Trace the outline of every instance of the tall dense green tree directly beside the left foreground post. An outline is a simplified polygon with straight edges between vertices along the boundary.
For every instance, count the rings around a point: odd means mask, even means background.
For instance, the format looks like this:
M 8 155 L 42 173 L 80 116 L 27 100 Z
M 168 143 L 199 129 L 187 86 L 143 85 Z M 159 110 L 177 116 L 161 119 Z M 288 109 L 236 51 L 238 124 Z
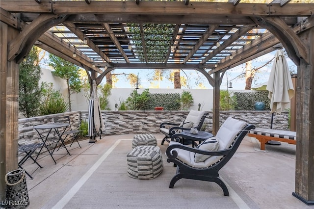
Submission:
M 19 75 L 19 111 L 26 117 L 39 114 L 40 98 L 43 86 L 39 85 L 42 75 L 38 65 L 38 50 L 33 47 L 27 57 L 20 63 Z

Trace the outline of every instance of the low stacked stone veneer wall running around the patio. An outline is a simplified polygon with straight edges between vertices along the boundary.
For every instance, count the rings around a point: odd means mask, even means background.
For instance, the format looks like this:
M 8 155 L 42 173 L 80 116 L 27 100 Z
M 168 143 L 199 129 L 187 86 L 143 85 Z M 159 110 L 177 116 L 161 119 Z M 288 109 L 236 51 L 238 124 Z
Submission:
M 159 134 L 159 125 L 162 122 L 181 123 L 189 111 L 102 111 L 105 123 L 104 134 Z M 65 112 L 60 114 L 23 118 L 19 120 L 19 143 L 40 142 L 37 131 L 33 126 L 53 123 L 52 118 L 58 115 L 70 115 L 73 129 L 78 129 L 81 121 L 87 121 L 87 111 Z M 269 111 L 220 111 L 220 124 L 229 116 L 246 121 L 259 128 L 270 128 L 271 114 Z M 204 124 L 206 131 L 212 131 L 212 111 L 206 117 Z M 273 129 L 288 130 L 288 112 L 275 115 Z M 48 130 L 43 130 L 47 133 Z

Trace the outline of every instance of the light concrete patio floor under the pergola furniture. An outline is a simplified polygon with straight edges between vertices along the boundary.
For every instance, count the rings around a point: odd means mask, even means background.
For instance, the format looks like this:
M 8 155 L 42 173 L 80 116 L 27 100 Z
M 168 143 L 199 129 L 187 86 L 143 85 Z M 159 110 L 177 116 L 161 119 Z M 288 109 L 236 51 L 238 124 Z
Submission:
M 43 168 L 26 161 L 29 209 L 111 209 L 111 208 L 260 208 L 310 209 L 292 196 L 295 182 L 295 145 L 266 145 L 246 136 L 231 160 L 220 171 L 230 197 L 215 183 L 179 180 L 169 183 L 175 167 L 163 157 L 163 172 L 154 180 L 127 176 L 126 153 L 134 134 L 102 136 L 96 143 L 83 140 L 53 154 L 40 155 Z M 155 134 L 158 146 L 162 135 Z

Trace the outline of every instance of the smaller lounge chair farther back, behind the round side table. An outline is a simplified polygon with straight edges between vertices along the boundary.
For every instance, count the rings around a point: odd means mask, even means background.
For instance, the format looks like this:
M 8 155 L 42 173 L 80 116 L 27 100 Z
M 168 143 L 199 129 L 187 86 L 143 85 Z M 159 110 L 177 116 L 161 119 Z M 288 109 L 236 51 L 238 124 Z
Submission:
M 169 122 L 161 123 L 159 126 L 159 131 L 165 134 L 165 137 L 161 141 L 161 145 L 163 145 L 165 141 L 170 142 L 169 139 L 171 139 L 171 136 L 178 131 L 189 131 L 191 128 L 196 128 L 198 131 L 200 131 L 207 115 L 208 112 L 191 109 L 181 124 Z

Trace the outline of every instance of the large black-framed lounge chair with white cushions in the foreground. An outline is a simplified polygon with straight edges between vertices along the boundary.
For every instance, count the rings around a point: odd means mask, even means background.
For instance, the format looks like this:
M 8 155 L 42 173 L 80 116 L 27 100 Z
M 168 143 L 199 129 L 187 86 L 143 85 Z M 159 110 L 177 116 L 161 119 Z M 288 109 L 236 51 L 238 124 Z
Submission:
M 197 148 L 171 141 L 167 148 L 167 161 L 177 165 L 176 175 L 169 188 L 180 179 L 194 179 L 217 183 L 225 196 L 229 191 L 219 178 L 219 170 L 230 160 L 239 147 L 242 139 L 253 125 L 229 117 L 220 127 L 216 136 L 202 142 Z

